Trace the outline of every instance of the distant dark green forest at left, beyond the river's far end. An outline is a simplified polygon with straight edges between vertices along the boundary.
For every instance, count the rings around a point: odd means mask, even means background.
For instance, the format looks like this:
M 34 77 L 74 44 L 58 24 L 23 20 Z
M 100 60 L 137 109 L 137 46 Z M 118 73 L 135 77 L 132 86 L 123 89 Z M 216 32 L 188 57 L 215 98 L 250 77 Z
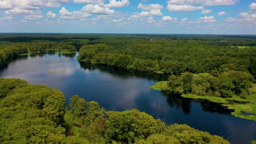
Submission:
M 49 50 L 56 51 L 57 53 L 75 53 L 79 51 L 82 45 L 89 43 L 88 39 L 27 37 L 0 37 L 0 68 L 19 55 L 29 55 Z

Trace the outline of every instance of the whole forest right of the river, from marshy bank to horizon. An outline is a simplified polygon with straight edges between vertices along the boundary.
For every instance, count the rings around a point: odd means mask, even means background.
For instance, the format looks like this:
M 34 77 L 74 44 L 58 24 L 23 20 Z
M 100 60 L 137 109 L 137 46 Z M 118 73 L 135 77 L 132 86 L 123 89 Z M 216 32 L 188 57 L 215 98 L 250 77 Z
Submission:
M 256 121 L 255 38 L 185 38 L 96 39 L 81 47 L 78 60 L 170 75 L 152 88 L 207 99 Z

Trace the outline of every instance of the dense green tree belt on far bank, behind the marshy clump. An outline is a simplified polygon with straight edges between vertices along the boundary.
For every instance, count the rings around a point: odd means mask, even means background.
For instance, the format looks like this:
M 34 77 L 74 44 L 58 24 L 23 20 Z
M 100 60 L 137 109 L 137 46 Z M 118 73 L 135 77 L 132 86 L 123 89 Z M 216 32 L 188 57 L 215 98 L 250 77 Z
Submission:
M 169 39 L 97 39 L 83 45 L 79 61 L 180 75 L 213 70 L 246 71 L 256 77 L 256 48 L 213 45 L 211 41 Z

